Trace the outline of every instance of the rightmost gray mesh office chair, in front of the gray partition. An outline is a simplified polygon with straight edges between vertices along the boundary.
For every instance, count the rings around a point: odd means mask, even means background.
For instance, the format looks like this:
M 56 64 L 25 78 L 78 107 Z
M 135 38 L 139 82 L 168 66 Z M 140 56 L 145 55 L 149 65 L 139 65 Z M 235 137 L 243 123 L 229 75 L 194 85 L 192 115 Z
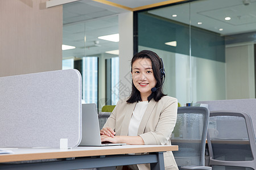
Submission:
M 210 112 L 207 139 L 212 169 L 256 169 L 256 143 L 249 114 Z

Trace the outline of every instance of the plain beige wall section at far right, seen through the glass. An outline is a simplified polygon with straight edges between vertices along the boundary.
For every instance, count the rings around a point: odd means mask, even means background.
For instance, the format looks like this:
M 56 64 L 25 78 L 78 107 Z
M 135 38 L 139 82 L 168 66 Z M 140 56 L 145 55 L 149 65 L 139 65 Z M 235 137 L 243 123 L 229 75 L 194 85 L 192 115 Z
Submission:
M 226 47 L 226 99 L 255 98 L 254 44 Z

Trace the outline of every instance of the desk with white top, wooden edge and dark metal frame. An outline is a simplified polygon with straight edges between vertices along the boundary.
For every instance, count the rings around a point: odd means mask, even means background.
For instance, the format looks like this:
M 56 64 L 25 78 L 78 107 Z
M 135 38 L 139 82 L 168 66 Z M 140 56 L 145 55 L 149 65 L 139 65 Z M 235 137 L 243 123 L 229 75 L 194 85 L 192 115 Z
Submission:
M 151 163 L 151 169 L 164 169 L 163 152 L 177 151 L 178 146 L 125 145 L 105 147 L 9 149 L 14 154 L 0 155 L 0 169 L 82 169 Z M 150 152 L 146 155 L 127 155 Z M 52 162 L 35 160 L 57 159 Z M 26 161 L 29 163 L 10 163 Z

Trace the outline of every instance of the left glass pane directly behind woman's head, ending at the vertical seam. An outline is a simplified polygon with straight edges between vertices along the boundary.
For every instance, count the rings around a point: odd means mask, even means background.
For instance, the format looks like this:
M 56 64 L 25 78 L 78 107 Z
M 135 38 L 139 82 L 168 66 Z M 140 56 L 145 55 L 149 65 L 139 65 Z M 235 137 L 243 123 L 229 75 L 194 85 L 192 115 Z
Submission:
M 189 9 L 186 4 L 184 7 Z M 138 14 L 138 50 L 152 50 L 163 58 L 164 92 L 178 97 L 179 103 L 186 103 L 191 97 L 189 27 L 164 18 L 160 13 L 162 8 Z M 174 15 L 169 10 L 163 13 Z M 184 19 L 189 20 L 188 17 Z

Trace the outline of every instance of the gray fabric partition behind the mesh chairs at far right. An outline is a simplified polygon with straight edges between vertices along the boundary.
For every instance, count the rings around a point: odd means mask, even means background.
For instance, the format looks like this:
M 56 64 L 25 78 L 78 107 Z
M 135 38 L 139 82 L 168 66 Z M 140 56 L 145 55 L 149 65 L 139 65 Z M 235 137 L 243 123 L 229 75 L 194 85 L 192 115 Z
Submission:
M 234 99 L 234 100 L 212 100 L 197 101 L 197 103 L 208 104 L 209 111 L 238 111 L 250 115 L 253 127 L 256 127 L 256 99 Z M 256 135 L 255 131 L 254 134 Z

